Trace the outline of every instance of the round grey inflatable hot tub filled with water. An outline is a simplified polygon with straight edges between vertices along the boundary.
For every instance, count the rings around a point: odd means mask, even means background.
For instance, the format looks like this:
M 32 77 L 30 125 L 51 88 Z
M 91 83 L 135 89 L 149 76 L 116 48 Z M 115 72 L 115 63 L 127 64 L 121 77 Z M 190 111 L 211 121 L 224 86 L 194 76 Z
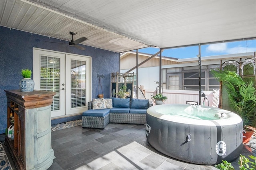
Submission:
M 242 153 L 242 119 L 200 105 L 156 105 L 146 113 L 146 137 L 156 150 L 195 164 L 231 162 Z

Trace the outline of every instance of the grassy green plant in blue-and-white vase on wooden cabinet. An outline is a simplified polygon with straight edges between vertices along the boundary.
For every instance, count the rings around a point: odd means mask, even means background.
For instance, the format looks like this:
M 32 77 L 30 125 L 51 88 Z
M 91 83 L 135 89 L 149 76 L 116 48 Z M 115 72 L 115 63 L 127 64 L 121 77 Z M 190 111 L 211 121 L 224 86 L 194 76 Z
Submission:
M 30 92 L 34 91 L 34 80 L 31 79 L 32 71 L 30 69 L 22 69 L 20 71 L 23 79 L 20 80 L 20 91 Z

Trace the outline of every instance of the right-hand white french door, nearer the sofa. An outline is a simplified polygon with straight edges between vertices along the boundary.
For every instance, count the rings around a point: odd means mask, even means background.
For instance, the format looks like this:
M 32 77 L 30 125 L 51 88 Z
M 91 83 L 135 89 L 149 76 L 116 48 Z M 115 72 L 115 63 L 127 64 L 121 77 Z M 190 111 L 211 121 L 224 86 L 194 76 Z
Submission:
M 66 115 L 82 113 L 90 101 L 90 57 L 66 54 Z

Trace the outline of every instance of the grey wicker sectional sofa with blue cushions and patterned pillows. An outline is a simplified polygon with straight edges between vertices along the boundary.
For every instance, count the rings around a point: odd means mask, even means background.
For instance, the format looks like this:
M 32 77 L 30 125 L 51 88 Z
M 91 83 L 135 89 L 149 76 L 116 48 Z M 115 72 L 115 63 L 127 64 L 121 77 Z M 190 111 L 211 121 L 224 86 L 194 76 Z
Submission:
M 147 99 L 93 99 L 82 113 L 82 127 L 105 128 L 108 123 L 145 124 L 146 112 L 153 105 Z

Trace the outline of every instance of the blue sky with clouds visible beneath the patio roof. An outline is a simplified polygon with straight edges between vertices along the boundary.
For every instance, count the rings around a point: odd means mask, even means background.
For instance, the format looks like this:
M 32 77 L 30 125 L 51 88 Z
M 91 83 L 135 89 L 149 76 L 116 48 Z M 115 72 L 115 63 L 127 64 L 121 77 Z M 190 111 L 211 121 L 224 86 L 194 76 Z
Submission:
M 153 47 L 139 49 L 139 52 L 149 54 L 154 54 L 157 51 L 159 51 L 159 49 Z M 246 53 L 254 51 L 256 51 L 256 40 L 201 45 L 201 57 L 212 55 Z M 196 55 L 198 55 L 198 46 L 165 49 L 162 52 L 162 56 L 174 57 L 179 59 L 194 58 L 196 57 Z

